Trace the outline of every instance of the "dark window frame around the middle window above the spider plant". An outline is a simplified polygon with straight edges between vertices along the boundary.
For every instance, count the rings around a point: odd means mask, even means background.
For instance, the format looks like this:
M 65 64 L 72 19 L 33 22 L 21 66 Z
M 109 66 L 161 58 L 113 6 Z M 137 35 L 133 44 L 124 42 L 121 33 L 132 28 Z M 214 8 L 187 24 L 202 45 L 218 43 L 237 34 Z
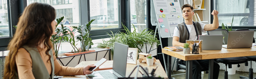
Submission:
M 88 21 L 90 21 L 90 0 L 79 0 L 79 7 L 80 7 L 80 24 L 84 25 L 87 24 Z M 127 3 L 127 4 L 126 4 Z M 87 4 L 87 5 L 84 5 Z M 113 34 L 117 32 L 124 32 L 125 25 L 128 30 L 131 30 L 131 21 L 130 21 L 130 0 L 118 0 L 118 10 L 119 10 L 119 28 L 110 28 L 110 29 L 97 29 L 97 30 L 91 30 L 90 34 L 92 34 L 90 37 L 92 40 L 95 39 L 101 39 L 101 38 L 109 38 L 110 36 L 107 35 L 107 33 L 111 34 L 110 31 L 113 32 Z M 83 8 L 81 8 L 83 7 Z M 83 14 L 83 15 L 81 15 Z M 85 26 L 84 26 L 85 27 Z

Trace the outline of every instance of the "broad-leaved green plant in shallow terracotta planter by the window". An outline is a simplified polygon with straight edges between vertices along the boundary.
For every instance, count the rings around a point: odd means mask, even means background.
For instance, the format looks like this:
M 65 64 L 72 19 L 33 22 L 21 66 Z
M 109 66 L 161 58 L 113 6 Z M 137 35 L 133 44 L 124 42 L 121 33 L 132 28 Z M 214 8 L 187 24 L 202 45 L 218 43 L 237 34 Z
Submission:
M 72 46 L 73 49 L 74 49 L 74 52 L 73 52 L 73 50 L 71 50 L 70 53 L 65 53 L 66 56 L 84 54 L 84 53 L 88 53 L 88 52 L 93 52 L 93 51 L 95 51 L 95 50 L 89 50 L 89 51 L 88 51 L 89 47 L 90 47 L 91 45 L 93 45 L 92 39 L 89 37 L 91 34 L 89 34 L 89 33 L 90 33 L 90 31 L 91 31 L 90 25 L 91 25 L 92 21 L 94 21 L 94 20 L 95 20 L 95 19 L 89 21 L 88 24 L 86 24 L 86 27 L 83 27 L 83 25 L 78 25 L 78 27 L 73 27 L 74 29 L 77 30 L 78 33 L 80 33 L 79 35 L 77 35 L 77 36 L 74 37 L 74 36 L 71 34 L 70 37 L 68 37 L 68 36 L 65 36 L 65 37 L 64 37 L 65 41 L 68 42 L 68 43 L 70 43 L 71 46 Z M 74 32 L 75 30 L 72 30 L 72 31 L 71 31 L 71 30 L 68 30 L 68 31 L 69 31 L 70 33 L 72 33 L 72 32 Z M 77 48 L 77 47 L 76 47 L 77 44 L 75 44 L 76 41 L 74 40 L 74 38 L 76 38 L 78 41 L 81 42 L 81 47 L 80 47 L 80 48 Z M 88 46 L 87 50 L 86 50 L 86 46 Z

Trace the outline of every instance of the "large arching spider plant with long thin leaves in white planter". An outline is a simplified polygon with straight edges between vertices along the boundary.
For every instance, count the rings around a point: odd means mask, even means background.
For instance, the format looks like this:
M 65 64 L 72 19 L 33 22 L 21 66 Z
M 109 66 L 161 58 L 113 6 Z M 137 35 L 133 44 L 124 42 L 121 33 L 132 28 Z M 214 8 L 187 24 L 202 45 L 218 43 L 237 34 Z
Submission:
M 123 25 L 123 24 L 122 24 Z M 136 32 L 136 29 L 134 27 L 134 31 L 131 32 L 129 31 L 125 25 L 123 25 L 124 27 L 124 31 L 125 33 L 122 32 L 118 32 L 113 34 L 113 32 L 111 31 L 112 35 L 107 33 L 111 38 L 109 41 L 104 41 L 103 43 L 98 43 L 99 48 L 110 48 L 111 49 L 111 53 L 113 55 L 114 52 L 114 43 L 118 42 L 121 44 L 125 44 L 128 45 L 131 48 L 138 48 L 139 52 L 141 52 L 141 47 L 144 46 L 144 43 L 149 43 L 151 45 L 153 45 L 154 43 L 156 43 L 156 45 L 158 46 L 159 41 L 157 40 L 157 38 L 154 36 L 154 31 L 150 30 L 150 29 L 144 29 L 141 32 Z M 149 31 L 147 31 L 149 30 Z

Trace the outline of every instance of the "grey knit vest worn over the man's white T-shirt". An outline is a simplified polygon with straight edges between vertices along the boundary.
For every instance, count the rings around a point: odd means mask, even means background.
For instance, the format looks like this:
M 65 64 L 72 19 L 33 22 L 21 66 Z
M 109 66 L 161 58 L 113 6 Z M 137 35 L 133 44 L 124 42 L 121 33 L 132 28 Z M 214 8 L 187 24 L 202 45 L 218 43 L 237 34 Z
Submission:
M 195 27 L 197 40 L 198 40 L 198 35 L 202 35 L 201 25 L 199 22 L 194 22 L 194 21 L 193 21 L 193 25 Z M 189 40 L 189 31 L 188 31 L 187 25 L 185 24 L 185 22 L 182 22 L 178 24 L 176 27 L 179 30 L 179 42 L 186 43 L 186 40 Z

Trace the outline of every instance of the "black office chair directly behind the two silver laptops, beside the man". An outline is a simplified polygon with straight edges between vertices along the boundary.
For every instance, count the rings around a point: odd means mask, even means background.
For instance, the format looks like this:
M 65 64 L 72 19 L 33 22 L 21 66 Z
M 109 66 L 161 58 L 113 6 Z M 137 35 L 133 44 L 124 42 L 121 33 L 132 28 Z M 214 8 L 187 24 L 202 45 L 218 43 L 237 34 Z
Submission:
M 216 30 L 211 30 L 207 31 L 208 35 L 224 35 L 223 38 L 223 45 L 227 44 L 228 42 L 228 30 L 226 29 L 216 29 Z M 247 62 L 246 57 L 230 57 L 230 58 L 218 58 L 215 59 L 217 63 L 223 63 L 225 64 L 225 72 L 224 72 L 224 79 L 228 79 L 228 71 L 227 71 L 227 66 L 228 68 L 232 68 L 231 64 L 238 64 L 238 67 L 240 67 L 239 64 Z

